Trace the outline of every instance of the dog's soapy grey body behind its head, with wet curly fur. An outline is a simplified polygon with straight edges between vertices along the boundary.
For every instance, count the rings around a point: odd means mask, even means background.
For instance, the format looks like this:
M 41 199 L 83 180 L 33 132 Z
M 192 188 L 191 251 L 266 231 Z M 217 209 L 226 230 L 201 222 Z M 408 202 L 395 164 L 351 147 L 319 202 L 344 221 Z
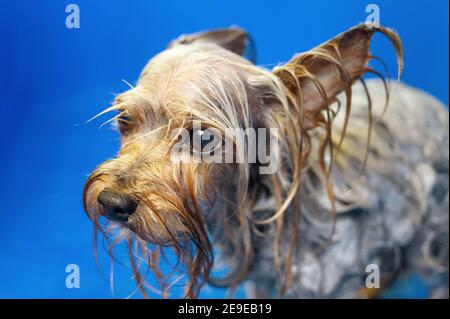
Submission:
M 334 159 L 335 230 L 331 238 L 324 236 L 332 225 L 325 192 L 305 194 L 300 246 L 292 263 L 295 279 L 287 297 L 380 296 L 409 278 L 419 278 L 429 297 L 448 295 L 442 286 L 448 276 L 448 112 L 427 93 L 398 84 L 381 116 L 383 82 L 369 80 L 367 88 L 373 114 L 367 163 L 362 168 L 368 100 L 364 87 L 356 84 L 351 124 Z M 336 140 L 342 123 L 338 116 Z M 314 174 L 314 167 L 310 171 Z M 274 238 L 266 240 L 269 244 Z M 257 258 L 251 274 L 257 284 L 250 284 L 250 291 L 277 297 L 277 281 L 267 278 L 273 273 L 272 255 L 261 249 Z

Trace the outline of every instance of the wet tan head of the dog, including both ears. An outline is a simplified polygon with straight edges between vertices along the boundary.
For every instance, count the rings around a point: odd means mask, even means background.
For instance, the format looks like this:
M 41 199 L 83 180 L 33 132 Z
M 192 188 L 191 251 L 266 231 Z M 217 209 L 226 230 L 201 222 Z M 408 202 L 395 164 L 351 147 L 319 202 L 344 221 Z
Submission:
M 175 248 L 189 276 L 188 297 L 208 278 L 211 241 L 239 261 L 228 284 L 245 277 L 255 226 L 277 222 L 280 230 L 290 206 L 298 217 L 293 202 L 314 130 L 325 132 L 317 147 L 327 174 L 329 106 L 342 91 L 350 101 L 352 83 L 370 71 L 377 31 L 395 45 L 401 71 L 399 39 L 381 27 L 350 29 L 272 72 L 243 57 L 250 40 L 239 28 L 182 36 L 100 113 L 117 111 L 121 148 L 89 177 L 85 210 L 105 236 L 127 241 L 141 288 L 135 243 L 156 274 L 158 247 Z M 275 197 L 277 209 L 255 216 L 264 193 Z M 157 247 L 151 253 L 149 243 Z

